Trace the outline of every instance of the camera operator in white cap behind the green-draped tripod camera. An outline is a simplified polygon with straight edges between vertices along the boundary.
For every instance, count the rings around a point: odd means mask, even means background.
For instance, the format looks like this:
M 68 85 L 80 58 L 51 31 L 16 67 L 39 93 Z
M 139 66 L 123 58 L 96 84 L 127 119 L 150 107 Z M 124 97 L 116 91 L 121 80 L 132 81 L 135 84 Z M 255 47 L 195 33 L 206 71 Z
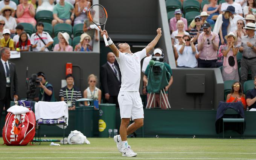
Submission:
M 164 58 L 163 50 L 161 48 L 155 48 L 152 59 L 154 59 L 155 57 L 159 57 L 160 62 L 161 62 L 161 59 Z M 173 82 L 172 70 L 171 70 L 170 65 L 168 65 L 168 63 L 165 63 L 165 62 L 163 62 L 163 63 L 165 65 L 165 68 L 167 69 L 167 71 L 171 74 L 169 84 L 167 86 L 165 86 L 165 92 L 168 97 L 168 89 L 172 85 L 172 82 Z M 146 85 L 148 84 L 147 76 L 149 74 L 149 67 L 150 66 L 148 65 L 146 68 L 146 71 L 145 71 L 145 75 L 143 76 L 143 82 L 144 82 L 143 84 L 146 84 Z M 143 86 L 143 91 L 144 91 L 144 89 L 146 89 L 146 86 Z M 150 95 L 150 93 L 147 94 L 147 97 L 152 98 L 152 97 L 149 97 L 149 95 Z M 157 102 L 157 105 L 160 106 L 160 94 L 159 93 L 158 94 L 155 93 L 155 100 Z M 151 101 L 149 101 L 149 103 L 151 103 Z M 154 107 L 154 106 L 156 106 L 156 104 L 153 103 L 152 107 Z M 165 103 L 163 103 L 163 101 L 162 101 L 161 107 L 162 107 L 161 109 L 167 109 L 167 106 L 165 105 Z

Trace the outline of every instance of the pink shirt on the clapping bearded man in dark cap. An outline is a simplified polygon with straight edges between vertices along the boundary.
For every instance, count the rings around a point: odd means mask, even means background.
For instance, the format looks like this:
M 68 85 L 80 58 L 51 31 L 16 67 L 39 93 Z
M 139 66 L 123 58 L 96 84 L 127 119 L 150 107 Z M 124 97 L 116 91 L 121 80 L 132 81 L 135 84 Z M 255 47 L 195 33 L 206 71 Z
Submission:
M 203 41 L 203 34 L 204 34 L 204 32 L 200 33 L 200 35 L 198 36 L 198 39 L 197 39 L 198 45 L 201 44 Z M 200 51 L 200 56 L 199 56 L 199 58 L 202 60 L 217 59 L 217 50 L 215 51 L 213 49 L 213 45 L 212 45 L 212 41 L 211 41 L 213 35 L 215 35 L 214 43 L 219 44 L 219 36 L 217 34 L 211 32 L 209 37 L 206 36 L 206 40 L 204 41 L 203 49 Z M 207 39 L 209 39 L 209 41 Z M 210 44 L 208 44 L 208 42 Z

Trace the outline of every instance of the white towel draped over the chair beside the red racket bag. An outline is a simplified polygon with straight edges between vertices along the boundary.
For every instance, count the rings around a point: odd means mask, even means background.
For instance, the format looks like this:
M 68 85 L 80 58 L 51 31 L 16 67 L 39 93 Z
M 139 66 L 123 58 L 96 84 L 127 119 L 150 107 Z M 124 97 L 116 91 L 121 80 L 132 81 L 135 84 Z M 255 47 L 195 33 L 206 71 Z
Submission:
M 43 102 L 35 103 L 35 119 L 58 119 L 64 116 L 67 118 L 67 125 L 69 122 L 69 106 L 64 102 Z M 63 125 L 57 125 L 63 128 Z M 66 128 L 66 126 L 65 126 Z

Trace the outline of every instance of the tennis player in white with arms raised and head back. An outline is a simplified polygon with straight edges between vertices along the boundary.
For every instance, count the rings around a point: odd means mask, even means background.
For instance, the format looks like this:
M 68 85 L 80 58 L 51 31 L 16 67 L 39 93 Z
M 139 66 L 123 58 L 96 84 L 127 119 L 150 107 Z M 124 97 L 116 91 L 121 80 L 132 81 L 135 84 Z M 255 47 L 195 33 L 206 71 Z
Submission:
M 116 142 L 118 151 L 123 156 L 135 157 L 137 153 L 134 153 L 128 145 L 127 135 L 143 126 L 144 111 L 139 93 L 140 61 L 146 57 L 146 53 L 155 47 L 162 35 L 162 30 L 158 28 L 155 39 L 142 51 L 136 53 L 131 52 L 130 45 L 127 43 L 117 43 L 114 45 L 106 30 L 101 31 L 101 36 L 104 34 L 106 35 L 109 47 L 115 54 L 122 75 L 121 88 L 118 94 L 121 117 L 120 135 L 114 136 L 114 141 Z M 134 121 L 131 125 L 129 125 L 130 118 Z

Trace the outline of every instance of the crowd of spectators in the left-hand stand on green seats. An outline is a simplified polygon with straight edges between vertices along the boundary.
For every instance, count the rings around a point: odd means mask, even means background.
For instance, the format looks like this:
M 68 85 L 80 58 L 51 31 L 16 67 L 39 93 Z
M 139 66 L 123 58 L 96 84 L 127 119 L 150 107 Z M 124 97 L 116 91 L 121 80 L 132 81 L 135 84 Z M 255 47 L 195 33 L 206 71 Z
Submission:
M 0 39 L 4 38 L 4 29 L 8 29 L 10 39 L 14 41 L 14 47 L 10 48 L 11 50 L 93 51 L 93 39 L 99 41 L 99 34 L 94 23 L 88 18 L 88 9 L 91 3 L 91 0 L 20 0 L 19 4 L 16 4 L 12 0 L 3 0 L 0 2 Z M 52 12 L 51 26 L 53 30 L 51 33 L 47 30 L 44 31 L 44 23 L 46 22 L 43 23 L 35 19 L 36 13 L 40 11 Z M 32 24 L 35 28 L 35 33 L 33 33 L 34 30 L 32 30 L 32 34 L 27 33 L 27 40 L 19 39 L 20 34 L 25 32 L 24 27 L 26 26 L 24 26 L 24 23 Z M 71 33 L 57 32 L 58 34 L 55 34 L 54 26 L 58 23 L 66 23 L 72 26 L 82 24 L 79 30 L 86 33 L 86 36 L 82 33 L 72 35 Z M 9 32 L 6 31 L 5 34 Z M 72 38 L 80 35 L 81 41 L 78 44 L 70 44 Z M 55 38 L 56 42 L 53 40 L 55 36 L 58 37 L 58 39 Z M 7 36 L 5 39 L 8 42 Z M 4 40 L 1 41 L 4 42 Z M 1 46 L 8 47 L 5 43 Z

